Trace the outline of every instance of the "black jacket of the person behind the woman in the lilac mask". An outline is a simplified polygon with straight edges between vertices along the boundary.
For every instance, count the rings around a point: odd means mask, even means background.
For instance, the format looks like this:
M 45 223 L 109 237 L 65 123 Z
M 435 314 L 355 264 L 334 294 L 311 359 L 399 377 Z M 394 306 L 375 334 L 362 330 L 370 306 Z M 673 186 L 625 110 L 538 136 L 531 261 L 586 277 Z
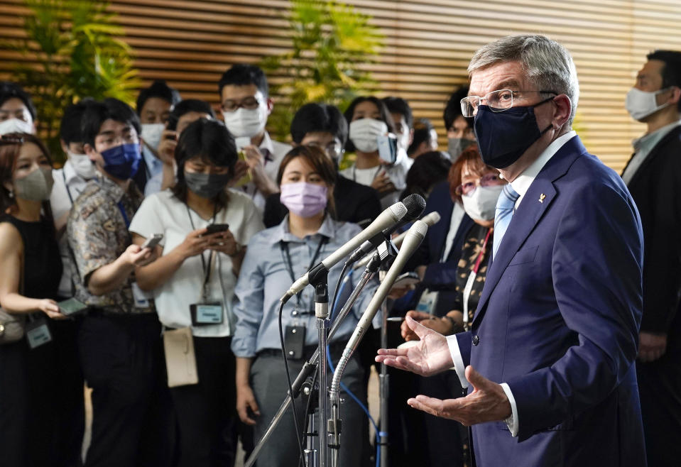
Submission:
M 336 219 L 354 222 L 364 227 L 381 214 L 381 202 L 375 189 L 353 182 L 349 178 L 337 175 L 334 187 Z M 279 193 L 271 194 L 265 200 L 263 222 L 266 227 L 278 226 L 288 214 L 288 209 L 279 201 Z

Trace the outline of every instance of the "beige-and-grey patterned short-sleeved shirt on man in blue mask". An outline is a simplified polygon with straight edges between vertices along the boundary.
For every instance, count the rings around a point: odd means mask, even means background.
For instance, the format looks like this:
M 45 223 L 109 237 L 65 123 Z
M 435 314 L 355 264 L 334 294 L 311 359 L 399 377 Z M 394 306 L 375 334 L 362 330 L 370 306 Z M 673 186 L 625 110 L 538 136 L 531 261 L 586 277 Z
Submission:
M 133 182 L 126 191 L 107 177 L 97 176 L 86 185 L 73 202 L 67 224 L 69 245 L 75 257 L 74 277 L 77 300 L 107 312 L 148 313 L 150 307 L 136 307 L 132 292 L 134 274 L 117 290 L 92 295 L 83 280 L 95 270 L 113 263 L 131 244 L 130 219 L 142 202 L 142 194 Z

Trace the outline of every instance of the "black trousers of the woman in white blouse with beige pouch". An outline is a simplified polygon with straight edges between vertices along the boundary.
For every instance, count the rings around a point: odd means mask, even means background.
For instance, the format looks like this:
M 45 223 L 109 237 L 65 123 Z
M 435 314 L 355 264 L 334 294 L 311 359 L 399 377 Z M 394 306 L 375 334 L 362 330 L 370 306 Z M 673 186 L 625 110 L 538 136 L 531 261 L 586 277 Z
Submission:
M 236 363 L 231 337 L 194 337 L 199 383 L 170 388 L 180 467 L 231 467 L 236 457 Z

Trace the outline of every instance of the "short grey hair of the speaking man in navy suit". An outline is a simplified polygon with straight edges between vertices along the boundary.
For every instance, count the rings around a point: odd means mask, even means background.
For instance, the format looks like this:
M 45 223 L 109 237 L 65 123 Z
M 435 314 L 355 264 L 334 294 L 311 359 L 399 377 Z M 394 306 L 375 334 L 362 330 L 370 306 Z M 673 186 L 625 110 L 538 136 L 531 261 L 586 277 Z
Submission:
M 469 75 L 500 62 L 521 62 L 526 76 L 537 89 L 565 94 L 570 98 L 572 126 L 579 101 L 579 82 L 572 55 L 545 35 L 507 35 L 481 47 L 468 65 Z

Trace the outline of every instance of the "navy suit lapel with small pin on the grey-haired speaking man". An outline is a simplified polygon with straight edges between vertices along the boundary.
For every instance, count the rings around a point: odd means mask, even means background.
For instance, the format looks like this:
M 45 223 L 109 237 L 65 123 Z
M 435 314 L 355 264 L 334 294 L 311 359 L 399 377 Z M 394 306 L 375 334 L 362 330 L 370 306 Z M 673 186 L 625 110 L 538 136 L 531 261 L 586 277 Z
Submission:
M 473 324 L 479 322 L 484 316 L 486 304 L 494 288 L 499 283 L 503 271 L 506 270 L 508 263 L 521 248 L 525 239 L 535 229 L 544 213 L 549 209 L 557 192 L 553 182 L 565 175 L 567 169 L 574 160 L 586 152 L 584 145 L 579 141 L 579 137 L 572 138 L 560 148 L 555 155 L 546 163 L 539 172 L 530 188 L 525 193 L 520 206 L 513 213 L 511 224 L 508 224 L 506 234 L 504 234 L 497 252 L 497 257 L 493 258 L 492 264 L 487 271 L 485 285 L 482 290 L 478 308 L 476 309 Z

